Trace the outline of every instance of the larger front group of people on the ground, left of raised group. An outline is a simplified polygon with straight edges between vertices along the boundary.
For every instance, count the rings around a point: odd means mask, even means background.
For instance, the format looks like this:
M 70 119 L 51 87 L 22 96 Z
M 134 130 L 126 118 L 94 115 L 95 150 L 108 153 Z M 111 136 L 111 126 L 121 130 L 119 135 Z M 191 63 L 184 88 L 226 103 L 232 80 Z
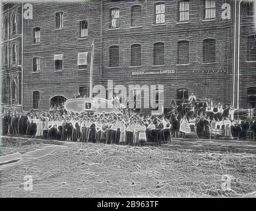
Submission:
M 53 140 L 137 145 L 171 142 L 170 122 L 164 117 L 121 113 L 68 111 L 7 112 L 2 116 L 3 135 L 28 135 Z

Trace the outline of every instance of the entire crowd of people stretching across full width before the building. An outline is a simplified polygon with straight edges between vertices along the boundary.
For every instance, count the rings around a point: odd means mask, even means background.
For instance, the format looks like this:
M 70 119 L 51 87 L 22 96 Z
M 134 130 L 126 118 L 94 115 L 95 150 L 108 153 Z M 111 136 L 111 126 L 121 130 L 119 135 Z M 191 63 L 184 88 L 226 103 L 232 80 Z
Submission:
M 2 117 L 3 135 L 27 135 L 63 141 L 106 144 L 170 143 L 172 137 L 255 138 L 255 116 L 234 115 L 234 107 L 201 102 L 171 104 L 168 113 L 152 116 L 120 109 L 121 113 L 74 113 L 65 109 L 11 112 Z M 246 118 L 247 117 L 247 118 Z M 249 131 L 249 133 L 248 133 Z

